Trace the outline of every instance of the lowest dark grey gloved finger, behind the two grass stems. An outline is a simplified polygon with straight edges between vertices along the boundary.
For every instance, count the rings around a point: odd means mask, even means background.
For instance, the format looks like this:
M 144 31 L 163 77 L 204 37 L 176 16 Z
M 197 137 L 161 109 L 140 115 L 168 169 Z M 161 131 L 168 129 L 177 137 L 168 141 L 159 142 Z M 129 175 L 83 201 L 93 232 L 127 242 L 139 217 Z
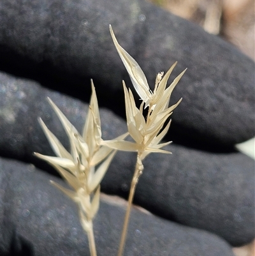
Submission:
M 89 255 L 77 206 L 51 186 L 62 183 L 32 165 L 1 158 L 1 255 Z M 116 255 L 125 210 L 101 202 L 94 219 L 98 255 Z M 131 211 L 125 255 L 234 256 L 208 232 L 184 227 L 138 209 Z

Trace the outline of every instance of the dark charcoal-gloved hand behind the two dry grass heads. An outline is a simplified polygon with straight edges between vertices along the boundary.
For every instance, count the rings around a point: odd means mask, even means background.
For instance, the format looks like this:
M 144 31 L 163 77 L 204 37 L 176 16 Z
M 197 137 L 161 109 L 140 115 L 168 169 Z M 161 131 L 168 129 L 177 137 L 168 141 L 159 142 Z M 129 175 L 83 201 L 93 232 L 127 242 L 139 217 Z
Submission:
M 133 210 L 126 255 L 233 255 L 231 246 L 254 238 L 254 161 L 233 149 L 254 137 L 251 59 L 143 1 L 4 0 L 1 19 L 3 255 L 89 255 L 75 204 L 48 183 L 59 178 L 33 152 L 54 156 L 38 117 L 68 148 L 47 96 L 82 130 L 89 79 L 103 138 L 126 132 L 122 79 L 132 86 L 108 24 L 149 84 L 174 61 L 170 80 L 188 68 L 171 99 L 184 98 L 166 136 L 173 154 L 148 156 L 136 189 L 135 204 L 154 215 Z M 135 155 L 117 153 L 101 190 L 127 197 L 134 165 Z M 102 198 L 94 220 L 98 255 L 117 252 L 124 207 L 114 204 Z

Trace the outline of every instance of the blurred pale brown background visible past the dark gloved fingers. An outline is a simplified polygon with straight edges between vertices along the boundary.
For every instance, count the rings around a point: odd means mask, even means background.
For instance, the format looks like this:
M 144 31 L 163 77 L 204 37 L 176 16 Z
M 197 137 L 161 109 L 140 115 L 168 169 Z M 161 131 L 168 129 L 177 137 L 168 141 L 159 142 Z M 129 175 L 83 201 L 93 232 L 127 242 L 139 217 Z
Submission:
M 218 35 L 255 60 L 254 0 L 147 0 L 184 19 L 199 24 L 205 31 Z M 255 85 L 254 85 L 255 93 Z M 255 114 L 255 113 L 254 113 Z M 254 158 L 254 141 L 237 146 Z M 237 256 L 254 256 L 255 240 L 233 248 Z

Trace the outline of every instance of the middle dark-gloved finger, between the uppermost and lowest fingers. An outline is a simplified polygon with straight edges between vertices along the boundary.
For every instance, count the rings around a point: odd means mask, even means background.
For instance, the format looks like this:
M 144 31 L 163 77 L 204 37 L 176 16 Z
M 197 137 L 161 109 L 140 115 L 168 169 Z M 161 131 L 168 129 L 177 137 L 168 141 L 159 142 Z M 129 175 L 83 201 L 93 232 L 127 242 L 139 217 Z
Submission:
M 9 81 L 9 84 L 8 84 Z M 2 74 L 0 153 L 54 172 L 33 156 L 54 155 L 37 118 L 68 148 L 68 139 L 46 101 L 50 96 L 81 131 L 87 105 L 50 91 L 33 81 Z M 104 139 L 126 132 L 126 122 L 100 109 Z M 254 160 L 244 154 L 210 153 L 177 144 L 166 147 L 172 155 L 151 154 L 138 183 L 135 203 L 154 214 L 224 237 L 231 245 L 249 243 L 254 234 Z M 116 154 L 101 184 L 105 193 L 127 197 L 135 168 L 135 154 Z

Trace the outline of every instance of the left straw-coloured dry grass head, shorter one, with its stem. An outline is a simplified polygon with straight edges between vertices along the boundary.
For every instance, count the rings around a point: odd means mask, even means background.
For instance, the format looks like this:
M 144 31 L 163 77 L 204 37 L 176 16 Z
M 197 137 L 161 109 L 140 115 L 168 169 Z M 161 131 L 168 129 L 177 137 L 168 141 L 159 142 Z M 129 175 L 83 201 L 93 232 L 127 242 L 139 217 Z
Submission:
M 45 133 L 50 146 L 57 156 L 45 156 L 34 153 L 39 158 L 47 161 L 55 167 L 61 176 L 67 181 L 70 190 L 60 184 L 51 181 L 78 205 L 80 222 L 89 236 L 91 255 L 96 255 L 92 220 L 99 208 L 100 183 L 105 176 L 115 150 L 101 146 L 101 121 L 98 109 L 96 91 L 91 81 L 92 95 L 82 135 L 62 114 L 61 110 L 48 98 L 48 102 L 59 117 L 62 126 L 69 138 L 71 153 L 69 153 L 55 135 L 48 130 L 47 126 L 39 119 L 41 128 Z M 128 133 L 117 139 L 124 139 Z

